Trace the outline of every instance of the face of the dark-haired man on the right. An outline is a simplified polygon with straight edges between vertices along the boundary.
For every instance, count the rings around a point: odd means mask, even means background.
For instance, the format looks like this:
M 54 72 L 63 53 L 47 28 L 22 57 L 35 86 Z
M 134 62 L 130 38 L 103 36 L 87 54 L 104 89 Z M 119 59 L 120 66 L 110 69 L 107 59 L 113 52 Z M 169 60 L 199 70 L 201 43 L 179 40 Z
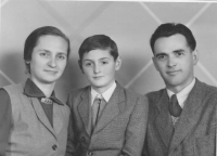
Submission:
M 166 87 L 177 93 L 194 78 L 197 52 L 191 51 L 183 35 L 176 34 L 155 41 L 153 62 Z

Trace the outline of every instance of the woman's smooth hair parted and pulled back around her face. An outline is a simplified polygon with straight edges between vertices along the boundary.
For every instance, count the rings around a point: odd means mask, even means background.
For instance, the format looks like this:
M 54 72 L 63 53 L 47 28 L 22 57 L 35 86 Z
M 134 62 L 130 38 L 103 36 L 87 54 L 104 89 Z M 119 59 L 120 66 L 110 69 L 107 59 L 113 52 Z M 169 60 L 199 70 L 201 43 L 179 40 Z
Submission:
M 71 52 L 71 42 L 69 42 L 69 39 L 59 28 L 53 27 L 53 26 L 39 27 L 39 28 L 35 29 L 27 37 L 27 39 L 25 41 L 25 46 L 24 46 L 24 61 L 25 61 L 25 64 L 26 64 L 26 69 L 27 69 L 27 72 L 29 74 L 30 74 L 30 66 L 29 66 L 29 64 L 27 62 L 29 62 L 31 60 L 33 50 L 37 46 L 38 39 L 41 36 L 47 36 L 47 35 L 62 37 L 67 42 L 67 44 L 68 44 L 68 48 L 67 48 L 67 57 L 69 55 L 69 52 Z

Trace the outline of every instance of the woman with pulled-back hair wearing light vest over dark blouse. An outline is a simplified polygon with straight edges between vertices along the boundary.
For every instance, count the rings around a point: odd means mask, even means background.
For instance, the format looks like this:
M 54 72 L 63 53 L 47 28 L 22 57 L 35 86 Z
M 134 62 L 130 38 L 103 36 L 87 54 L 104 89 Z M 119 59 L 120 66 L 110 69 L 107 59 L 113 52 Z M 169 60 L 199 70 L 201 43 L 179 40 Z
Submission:
M 69 108 L 55 98 L 55 81 L 69 55 L 69 40 L 51 26 L 34 30 L 25 41 L 25 83 L 0 89 L 0 155 L 65 154 Z

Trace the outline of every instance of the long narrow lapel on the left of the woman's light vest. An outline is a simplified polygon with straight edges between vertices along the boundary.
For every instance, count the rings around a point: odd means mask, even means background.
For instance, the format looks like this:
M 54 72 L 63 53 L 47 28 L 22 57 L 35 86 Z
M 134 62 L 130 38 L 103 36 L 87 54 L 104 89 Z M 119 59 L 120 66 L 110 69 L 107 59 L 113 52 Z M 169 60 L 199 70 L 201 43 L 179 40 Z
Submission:
M 41 107 L 40 103 L 38 102 L 37 98 L 30 98 L 33 100 L 33 106 L 34 109 L 36 112 L 36 115 L 39 119 L 39 121 L 55 136 L 55 132 L 53 130 L 53 128 L 51 127 L 50 121 L 48 120 L 48 117 L 46 116 L 46 113 L 43 110 L 43 108 Z

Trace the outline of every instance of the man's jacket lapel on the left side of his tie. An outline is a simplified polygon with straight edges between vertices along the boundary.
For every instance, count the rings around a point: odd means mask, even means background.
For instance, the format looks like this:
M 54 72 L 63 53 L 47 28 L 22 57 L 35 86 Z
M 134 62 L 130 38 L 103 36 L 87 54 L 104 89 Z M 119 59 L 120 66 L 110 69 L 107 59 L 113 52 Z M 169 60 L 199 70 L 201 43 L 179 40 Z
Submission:
M 158 116 L 155 120 L 155 126 L 161 134 L 165 145 L 168 147 L 174 132 L 173 120 L 168 112 L 169 99 L 166 90 L 163 90 L 162 96 L 157 103 Z

